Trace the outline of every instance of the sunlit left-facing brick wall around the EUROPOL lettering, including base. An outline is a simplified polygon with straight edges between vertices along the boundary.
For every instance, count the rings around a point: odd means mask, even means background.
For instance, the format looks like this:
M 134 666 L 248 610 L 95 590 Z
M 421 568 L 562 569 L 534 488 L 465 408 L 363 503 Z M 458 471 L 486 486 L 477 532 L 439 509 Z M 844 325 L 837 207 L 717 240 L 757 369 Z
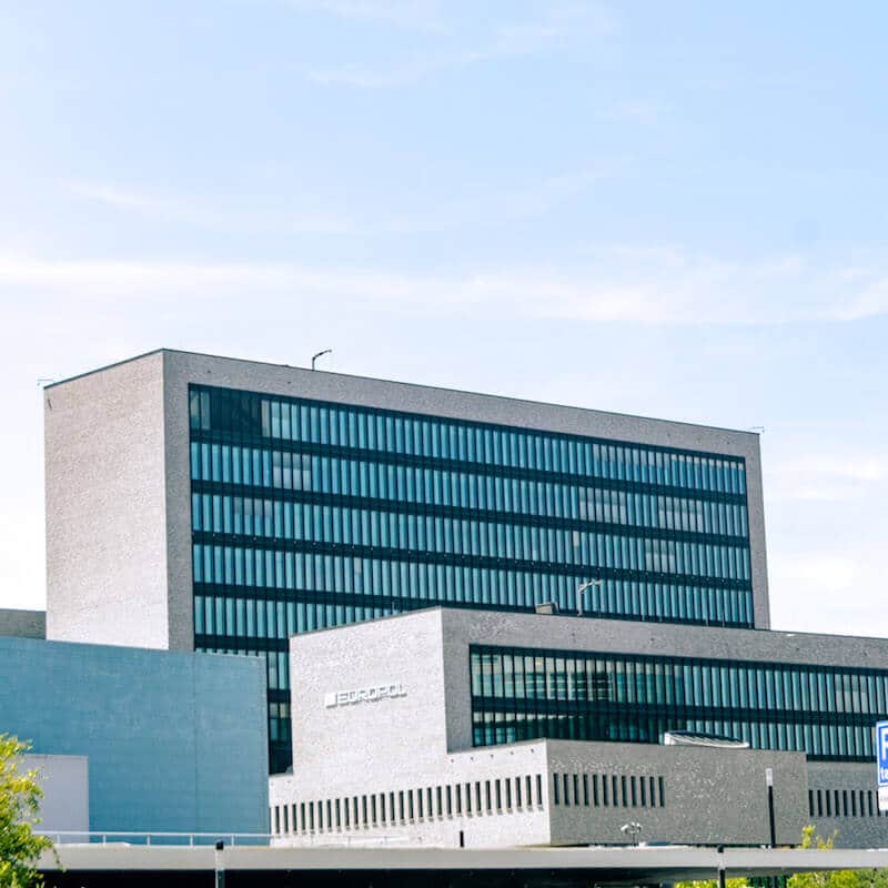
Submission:
M 423 612 L 407 633 L 386 632 L 391 620 L 354 624 L 347 633 L 310 633 L 291 639 L 294 692 L 292 776 L 273 777 L 270 804 L 326 800 L 369 793 L 416 790 L 444 783 L 545 774 L 545 746 L 525 744 L 504 750 L 478 749 L 451 755 L 446 746 L 444 670 L 440 612 Z M 326 695 L 398 683 L 403 696 L 327 707 Z M 546 791 L 543 780 L 544 797 Z M 507 829 L 515 844 L 546 844 L 548 816 L 543 806 L 509 811 Z M 468 847 L 501 841 L 503 816 L 426 818 L 353 830 L 353 837 L 396 836 L 433 845 Z M 335 830 L 333 830 L 335 833 Z M 312 844 L 317 836 L 303 836 Z

